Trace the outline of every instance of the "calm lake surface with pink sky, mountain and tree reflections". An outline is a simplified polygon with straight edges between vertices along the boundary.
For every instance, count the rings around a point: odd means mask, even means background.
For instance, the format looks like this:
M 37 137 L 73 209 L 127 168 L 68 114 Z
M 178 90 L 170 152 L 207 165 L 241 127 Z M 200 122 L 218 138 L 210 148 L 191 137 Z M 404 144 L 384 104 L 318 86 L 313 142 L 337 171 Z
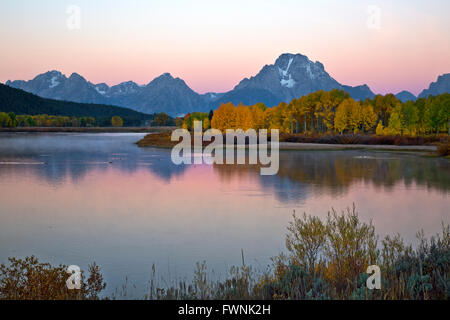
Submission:
M 325 217 L 355 203 L 380 236 L 407 242 L 449 222 L 445 159 L 368 151 L 280 152 L 275 176 L 257 166 L 176 166 L 143 134 L 0 134 L 0 263 L 102 267 L 107 293 L 128 277 L 142 296 L 151 266 L 166 281 L 206 260 L 222 278 L 246 262 L 263 270 L 284 250 L 293 211 Z

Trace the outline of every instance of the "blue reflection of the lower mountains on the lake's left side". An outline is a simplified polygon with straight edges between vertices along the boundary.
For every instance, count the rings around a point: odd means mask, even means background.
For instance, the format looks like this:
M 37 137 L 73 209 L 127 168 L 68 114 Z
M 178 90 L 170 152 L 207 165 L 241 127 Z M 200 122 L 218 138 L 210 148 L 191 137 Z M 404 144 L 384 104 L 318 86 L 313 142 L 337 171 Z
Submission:
M 138 148 L 134 144 L 138 139 L 134 135 L 2 135 L 0 177 L 31 172 L 50 184 L 60 184 L 113 167 L 123 173 L 149 170 L 170 180 L 186 170 L 172 164 L 168 150 Z

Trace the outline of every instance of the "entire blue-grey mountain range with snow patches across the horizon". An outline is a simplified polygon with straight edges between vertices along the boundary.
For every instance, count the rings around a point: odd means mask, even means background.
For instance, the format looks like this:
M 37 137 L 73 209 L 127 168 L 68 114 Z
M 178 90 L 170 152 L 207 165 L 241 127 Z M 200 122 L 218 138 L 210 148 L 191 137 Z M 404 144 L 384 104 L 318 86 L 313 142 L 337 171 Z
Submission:
M 272 107 L 317 90 L 341 89 L 357 100 L 375 96 L 366 84 L 354 87 L 340 84 L 325 71 L 322 63 L 313 62 L 302 54 L 289 53 L 282 54 L 274 64 L 265 65 L 258 74 L 243 79 L 224 93 L 199 94 L 170 73 L 160 75 L 147 85 L 128 81 L 110 87 L 105 83 L 91 83 L 77 73 L 66 77 L 59 71 L 49 71 L 29 81 L 8 80 L 6 85 L 44 98 L 115 105 L 148 114 L 165 112 L 171 116 L 209 111 L 224 102 L 246 105 L 263 102 Z M 449 89 L 450 74 L 444 74 L 419 97 L 449 92 Z M 396 96 L 402 101 L 416 99 L 407 91 Z

